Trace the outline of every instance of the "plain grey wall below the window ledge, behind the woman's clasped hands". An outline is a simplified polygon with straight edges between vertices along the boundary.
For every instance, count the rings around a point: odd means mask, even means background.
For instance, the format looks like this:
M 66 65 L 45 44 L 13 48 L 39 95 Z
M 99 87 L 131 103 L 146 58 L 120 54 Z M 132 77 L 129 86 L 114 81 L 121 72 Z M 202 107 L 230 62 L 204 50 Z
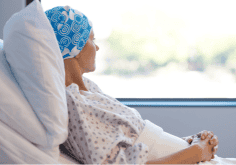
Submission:
M 235 107 L 134 107 L 142 116 L 178 137 L 213 131 L 219 139 L 216 153 L 222 158 L 236 158 Z

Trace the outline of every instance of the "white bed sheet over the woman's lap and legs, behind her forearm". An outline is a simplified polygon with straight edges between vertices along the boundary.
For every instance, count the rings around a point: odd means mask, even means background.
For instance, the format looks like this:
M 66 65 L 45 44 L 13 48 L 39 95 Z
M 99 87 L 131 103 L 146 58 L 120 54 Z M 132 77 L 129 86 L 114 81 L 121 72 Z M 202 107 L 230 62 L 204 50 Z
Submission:
M 145 120 L 145 122 L 145 128 L 135 143 L 144 143 L 148 146 L 148 161 L 170 155 L 189 146 L 185 140 L 164 132 L 161 127 L 149 120 Z M 211 161 L 200 162 L 199 164 L 236 164 L 236 158 L 221 158 L 215 155 Z

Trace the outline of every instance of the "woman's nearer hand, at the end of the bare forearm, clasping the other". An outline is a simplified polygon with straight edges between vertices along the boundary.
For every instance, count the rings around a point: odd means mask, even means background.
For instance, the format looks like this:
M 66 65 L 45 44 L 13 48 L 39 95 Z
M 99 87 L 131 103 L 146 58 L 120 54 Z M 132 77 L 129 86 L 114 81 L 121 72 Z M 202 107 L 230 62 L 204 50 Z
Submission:
M 200 160 L 202 162 L 210 161 L 212 156 L 214 155 L 213 150 L 216 146 L 215 144 L 211 144 L 210 140 L 213 137 L 213 134 L 208 134 L 204 140 L 202 140 L 198 135 L 195 135 L 191 145 L 197 145 L 200 150 Z

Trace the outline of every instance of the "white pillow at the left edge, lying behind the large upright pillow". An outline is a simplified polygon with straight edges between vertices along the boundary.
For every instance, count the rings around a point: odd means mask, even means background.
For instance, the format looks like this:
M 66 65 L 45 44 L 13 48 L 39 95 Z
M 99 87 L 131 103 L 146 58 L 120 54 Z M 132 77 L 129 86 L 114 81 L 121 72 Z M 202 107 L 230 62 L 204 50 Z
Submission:
M 12 75 L 4 51 L 1 49 L 0 77 L 0 120 L 27 140 L 45 146 L 47 144 L 46 130 Z

